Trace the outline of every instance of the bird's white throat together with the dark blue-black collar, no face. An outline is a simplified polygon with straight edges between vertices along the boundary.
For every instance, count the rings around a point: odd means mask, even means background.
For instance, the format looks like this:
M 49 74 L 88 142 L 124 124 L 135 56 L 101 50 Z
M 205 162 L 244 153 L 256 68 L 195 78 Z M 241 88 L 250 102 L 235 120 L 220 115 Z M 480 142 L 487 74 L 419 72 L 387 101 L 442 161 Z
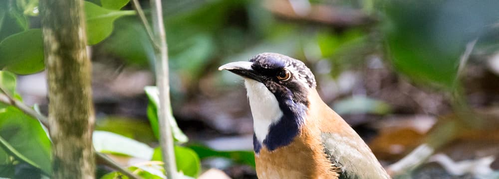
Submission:
M 258 154 L 262 146 L 272 151 L 290 144 L 299 133 L 306 106 L 276 95 L 254 80 L 245 79 L 245 87 L 253 116 L 254 152 Z

